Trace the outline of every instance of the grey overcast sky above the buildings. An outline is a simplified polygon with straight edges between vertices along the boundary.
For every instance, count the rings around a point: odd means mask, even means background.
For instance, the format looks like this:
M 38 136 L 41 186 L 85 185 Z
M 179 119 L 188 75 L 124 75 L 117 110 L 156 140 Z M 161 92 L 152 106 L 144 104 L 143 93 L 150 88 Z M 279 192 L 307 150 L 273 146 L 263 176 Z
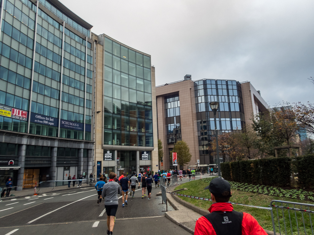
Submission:
M 156 85 L 250 81 L 270 105 L 314 102 L 314 1 L 60 0 L 108 36 L 151 55 Z

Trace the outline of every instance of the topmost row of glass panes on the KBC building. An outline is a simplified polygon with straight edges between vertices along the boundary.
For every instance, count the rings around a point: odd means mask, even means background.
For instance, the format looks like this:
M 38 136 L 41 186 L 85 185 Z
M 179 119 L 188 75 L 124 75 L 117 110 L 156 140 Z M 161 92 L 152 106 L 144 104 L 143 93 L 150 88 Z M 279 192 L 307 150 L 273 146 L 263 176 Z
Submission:
M 137 65 L 150 68 L 150 57 L 142 53 L 135 52 L 123 45 L 113 42 L 111 39 L 105 37 L 105 50 L 113 55 L 116 55 L 123 60 L 131 61 Z

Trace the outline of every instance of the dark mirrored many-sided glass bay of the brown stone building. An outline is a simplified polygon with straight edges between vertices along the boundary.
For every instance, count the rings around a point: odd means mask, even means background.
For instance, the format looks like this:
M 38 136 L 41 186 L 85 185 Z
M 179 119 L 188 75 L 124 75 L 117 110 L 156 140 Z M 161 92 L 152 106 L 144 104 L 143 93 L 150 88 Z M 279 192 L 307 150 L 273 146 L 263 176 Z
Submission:
M 200 80 L 194 82 L 198 145 L 201 164 L 215 164 L 208 145 L 215 135 L 214 113 L 209 103 L 219 102 L 216 114 L 218 134 L 241 130 L 244 126 L 244 111 L 240 83 L 230 80 Z

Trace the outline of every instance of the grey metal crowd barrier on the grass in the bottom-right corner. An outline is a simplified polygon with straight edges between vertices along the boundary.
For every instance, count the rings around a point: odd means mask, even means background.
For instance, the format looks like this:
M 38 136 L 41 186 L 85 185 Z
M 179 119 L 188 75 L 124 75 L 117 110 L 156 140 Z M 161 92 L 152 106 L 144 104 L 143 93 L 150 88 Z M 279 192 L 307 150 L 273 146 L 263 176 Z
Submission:
M 273 208 L 270 212 L 274 235 L 276 235 L 276 230 L 279 231 L 279 234 L 285 235 L 314 235 L 312 224 L 314 204 L 273 200 L 269 206 Z

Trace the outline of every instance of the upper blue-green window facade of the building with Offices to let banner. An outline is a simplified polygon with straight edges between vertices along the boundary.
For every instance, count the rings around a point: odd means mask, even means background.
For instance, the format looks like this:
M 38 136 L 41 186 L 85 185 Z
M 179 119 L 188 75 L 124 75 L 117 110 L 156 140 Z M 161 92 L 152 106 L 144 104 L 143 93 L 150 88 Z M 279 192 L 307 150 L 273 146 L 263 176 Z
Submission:
M 46 12 L 54 13 L 88 38 L 89 29 L 67 17 L 49 1 L 40 0 L 40 3 L 44 7 L 38 9 L 36 25 L 37 9 L 33 3 L 4 0 L 0 129 L 91 140 L 91 43 L 86 37 L 64 28 Z

